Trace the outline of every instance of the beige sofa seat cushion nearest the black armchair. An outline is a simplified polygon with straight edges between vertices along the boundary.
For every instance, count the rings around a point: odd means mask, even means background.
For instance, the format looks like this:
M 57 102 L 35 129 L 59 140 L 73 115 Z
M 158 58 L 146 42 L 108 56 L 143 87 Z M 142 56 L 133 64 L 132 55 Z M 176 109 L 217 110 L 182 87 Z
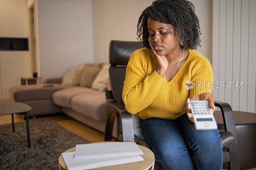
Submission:
M 74 96 L 71 100 L 71 108 L 99 121 L 107 119 L 110 109 L 106 101 L 105 92 L 93 89 Z

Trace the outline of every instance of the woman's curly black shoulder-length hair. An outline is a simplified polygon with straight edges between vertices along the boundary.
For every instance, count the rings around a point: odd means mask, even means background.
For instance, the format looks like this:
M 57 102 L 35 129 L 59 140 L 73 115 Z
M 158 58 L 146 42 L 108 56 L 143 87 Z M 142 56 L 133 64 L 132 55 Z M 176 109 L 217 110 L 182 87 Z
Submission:
M 197 49 L 200 46 L 199 20 L 190 1 L 156 0 L 141 13 L 137 24 L 137 40 L 146 48 L 150 48 L 148 17 L 164 24 L 171 24 L 173 33 L 179 35 L 183 48 Z

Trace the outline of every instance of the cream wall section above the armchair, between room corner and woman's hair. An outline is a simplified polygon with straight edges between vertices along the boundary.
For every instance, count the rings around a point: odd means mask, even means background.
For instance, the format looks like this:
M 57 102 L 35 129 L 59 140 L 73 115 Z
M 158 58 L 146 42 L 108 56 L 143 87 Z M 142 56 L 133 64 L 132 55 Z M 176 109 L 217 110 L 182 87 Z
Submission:
M 108 62 L 111 40 L 137 41 L 137 22 L 152 0 L 93 0 L 94 58 Z

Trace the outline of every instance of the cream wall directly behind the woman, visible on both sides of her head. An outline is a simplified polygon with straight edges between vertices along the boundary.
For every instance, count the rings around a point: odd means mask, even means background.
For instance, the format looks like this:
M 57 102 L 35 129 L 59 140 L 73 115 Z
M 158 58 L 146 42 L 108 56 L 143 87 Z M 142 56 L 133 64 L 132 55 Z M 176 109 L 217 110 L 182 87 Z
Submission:
M 141 12 L 153 0 L 93 0 L 94 59 L 108 62 L 111 40 L 137 41 L 137 22 Z M 212 0 L 191 0 L 201 28 L 201 46 L 197 51 L 212 61 Z

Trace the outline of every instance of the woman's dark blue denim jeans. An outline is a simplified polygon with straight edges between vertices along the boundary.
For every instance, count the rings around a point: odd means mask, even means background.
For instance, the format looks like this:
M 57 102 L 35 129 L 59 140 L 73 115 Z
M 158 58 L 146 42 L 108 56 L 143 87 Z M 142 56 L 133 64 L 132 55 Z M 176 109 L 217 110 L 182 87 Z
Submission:
M 216 130 L 196 130 L 187 114 L 176 120 L 141 119 L 143 136 L 164 169 L 221 170 L 223 152 Z M 193 151 L 193 158 L 187 147 Z

